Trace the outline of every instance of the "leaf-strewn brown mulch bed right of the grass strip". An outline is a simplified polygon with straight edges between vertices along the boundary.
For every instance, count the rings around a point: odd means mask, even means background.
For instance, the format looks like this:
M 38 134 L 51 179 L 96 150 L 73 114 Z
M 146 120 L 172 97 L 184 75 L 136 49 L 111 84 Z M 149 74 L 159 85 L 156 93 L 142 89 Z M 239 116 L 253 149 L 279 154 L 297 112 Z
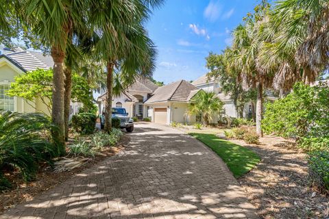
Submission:
M 308 178 L 306 154 L 292 140 L 267 136 L 246 146 L 262 158 L 238 181 L 261 218 L 329 218 L 329 197 L 319 194 Z

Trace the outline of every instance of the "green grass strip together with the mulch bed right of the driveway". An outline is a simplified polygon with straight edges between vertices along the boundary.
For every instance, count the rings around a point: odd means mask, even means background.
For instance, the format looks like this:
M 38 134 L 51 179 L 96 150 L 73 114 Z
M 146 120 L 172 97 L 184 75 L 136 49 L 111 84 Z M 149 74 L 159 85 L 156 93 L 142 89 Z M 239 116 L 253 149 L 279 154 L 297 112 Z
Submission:
M 259 138 L 258 144 L 247 144 L 243 139 L 228 139 L 227 127 L 177 125 L 178 129 L 195 136 L 215 151 L 236 175 L 236 169 L 245 170 L 237 180 L 261 218 L 326 218 L 329 216 L 329 197 L 311 183 L 308 155 L 296 146 L 295 140 L 277 136 Z M 249 170 L 249 160 L 239 156 L 243 150 L 252 151 L 260 162 Z M 238 152 L 238 153 L 237 153 Z M 249 152 L 247 152 L 249 154 Z M 238 168 L 230 162 L 239 165 Z M 231 166 L 231 167 L 230 167 Z M 251 170 L 250 170 L 251 169 Z

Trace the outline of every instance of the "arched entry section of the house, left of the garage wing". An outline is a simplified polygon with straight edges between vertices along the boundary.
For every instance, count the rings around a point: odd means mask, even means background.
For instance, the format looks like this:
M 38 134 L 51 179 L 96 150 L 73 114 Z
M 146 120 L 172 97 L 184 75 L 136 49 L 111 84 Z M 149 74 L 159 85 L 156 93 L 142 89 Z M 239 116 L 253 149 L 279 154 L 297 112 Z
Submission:
M 143 119 L 148 117 L 147 107 L 144 102 L 149 99 L 158 86 L 149 79 L 137 79 L 135 83 L 127 88 L 120 96 L 112 99 L 112 107 L 123 107 L 131 117 Z M 99 103 L 99 114 L 102 114 L 106 105 L 106 92 L 97 98 Z

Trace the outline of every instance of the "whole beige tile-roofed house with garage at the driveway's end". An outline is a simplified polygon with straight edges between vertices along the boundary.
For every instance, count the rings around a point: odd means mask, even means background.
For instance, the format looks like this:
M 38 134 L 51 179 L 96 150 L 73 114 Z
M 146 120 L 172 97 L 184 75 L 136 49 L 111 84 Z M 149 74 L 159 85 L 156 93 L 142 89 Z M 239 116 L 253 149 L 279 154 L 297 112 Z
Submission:
M 150 118 L 154 123 L 195 123 L 195 116 L 187 116 L 186 110 L 197 92 L 195 86 L 184 80 L 158 87 L 149 79 L 137 79 L 120 96 L 114 97 L 112 107 L 124 107 L 130 116 Z M 99 112 L 103 112 L 106 93 L 97 101 Z

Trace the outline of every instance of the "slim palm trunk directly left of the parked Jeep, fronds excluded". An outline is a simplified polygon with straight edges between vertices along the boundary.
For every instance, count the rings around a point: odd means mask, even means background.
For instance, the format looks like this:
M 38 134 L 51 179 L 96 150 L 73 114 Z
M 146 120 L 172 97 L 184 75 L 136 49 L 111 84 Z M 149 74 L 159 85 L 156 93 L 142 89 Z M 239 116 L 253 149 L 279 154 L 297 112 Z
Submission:
M 112 131 L 112 90 L 113 90 L 113 68 L 114 63 L 108 62 L 106 66 L 108 75 L 106 77 L 106 107 L 105 107 L 105 127 L 104 131 L 110 133 Z

